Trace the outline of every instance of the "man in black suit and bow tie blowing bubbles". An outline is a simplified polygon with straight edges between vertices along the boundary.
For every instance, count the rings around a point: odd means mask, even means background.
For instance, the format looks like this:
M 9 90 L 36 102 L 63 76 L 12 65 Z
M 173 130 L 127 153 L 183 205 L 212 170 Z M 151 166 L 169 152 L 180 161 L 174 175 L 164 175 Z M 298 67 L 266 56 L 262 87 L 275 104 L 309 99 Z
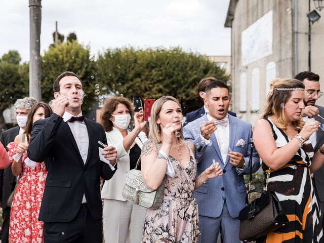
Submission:
M 44 239 L 102 242 L 100 177 L 113 176 L 117 152 L 105 146 L 100 153 L 110 163 L 100 160 L 98 141 L 107 143 L 105 131 L 82 115 L 83 85 L 76 74 L 63 72 L 53 89 L 53 114 L 34 123 L 27 149 L 29 158 L 44 161 L 48 171 L 38 217 L 45 222 Z

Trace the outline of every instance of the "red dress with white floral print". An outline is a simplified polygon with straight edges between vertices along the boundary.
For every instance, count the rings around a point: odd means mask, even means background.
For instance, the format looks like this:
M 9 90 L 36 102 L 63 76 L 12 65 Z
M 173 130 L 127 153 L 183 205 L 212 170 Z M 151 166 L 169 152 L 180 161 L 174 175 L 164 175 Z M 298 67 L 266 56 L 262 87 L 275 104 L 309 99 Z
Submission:
M 17 144 L 11 142 L 7 148 L 10 161 L 16 163 L 12 156 L 17 153 Z M 22 161 L 25 161 L 26 158 L 27 153 L 23 153 Z M 9 242 L 44 242 L 44 222 L 38 221 L 38 215 L 47 171 L 43 163 L 37 163 L 35 168 L 30 168 L 25 163 L 22 165 L 22 172 L 12 201 Z

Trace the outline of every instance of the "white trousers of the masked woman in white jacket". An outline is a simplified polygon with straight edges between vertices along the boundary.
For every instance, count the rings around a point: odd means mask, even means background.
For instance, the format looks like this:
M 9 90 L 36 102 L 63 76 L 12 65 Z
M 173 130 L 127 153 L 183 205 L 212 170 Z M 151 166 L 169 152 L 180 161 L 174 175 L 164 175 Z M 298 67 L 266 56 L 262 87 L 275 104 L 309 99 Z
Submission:
M 105 243 L 140 243 L 146 208 L 130 201 L 103 199 Z

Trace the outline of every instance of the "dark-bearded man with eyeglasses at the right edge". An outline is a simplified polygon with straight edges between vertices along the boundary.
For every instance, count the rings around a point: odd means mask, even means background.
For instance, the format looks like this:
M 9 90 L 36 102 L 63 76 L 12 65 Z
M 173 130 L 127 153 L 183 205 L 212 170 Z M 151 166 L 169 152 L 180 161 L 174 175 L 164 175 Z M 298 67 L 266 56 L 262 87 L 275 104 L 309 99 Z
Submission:
M 298 73 L 295 76 L 295 79 L 300 80 L 305 85 L 305 109 L 303 109 L 301 114 L 303 120 L 305 122 L 308 120 L 317 120 L 324 129 L 324 107 L 315 105 L 316 100 L 323 95 L 323 92 L 319 91 L 318 74 L 304 71 Z M 309 141 L 314 148 L 314 153 L 316 153 L 320 146 L 324 143 L 324 131 L 322 129 L 318 129 L 316 133 L 313 133 L 310 136 Z M 318 171 L 312 174 L 312 178 L 320 211 L 324 212 L 324 187 L 322 186 L 324 184 L 324 167 L 321 167 Z M 322 226 L 324 226 L 324 222 L 322 222 Z M 320 242 L 324 241 L 321 240 Z

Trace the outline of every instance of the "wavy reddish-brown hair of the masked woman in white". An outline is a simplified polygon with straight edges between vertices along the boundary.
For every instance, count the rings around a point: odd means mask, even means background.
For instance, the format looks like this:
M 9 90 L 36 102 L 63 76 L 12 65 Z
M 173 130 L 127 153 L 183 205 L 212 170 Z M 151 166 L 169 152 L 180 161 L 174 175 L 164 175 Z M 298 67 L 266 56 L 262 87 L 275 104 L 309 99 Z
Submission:
M 108 100 L 106 100 L 105 104 L 103 105 L 100 117 L 101 124 L 106 132 L 110 132 L 112 130 L 113 124 L 110 118 L 111 114 L 116 110 L 118 104 L 124 104 L 130 111 L 130 115 L 133 119 L 134 110 L 131 101 L 125 97 L 111 97 Z

